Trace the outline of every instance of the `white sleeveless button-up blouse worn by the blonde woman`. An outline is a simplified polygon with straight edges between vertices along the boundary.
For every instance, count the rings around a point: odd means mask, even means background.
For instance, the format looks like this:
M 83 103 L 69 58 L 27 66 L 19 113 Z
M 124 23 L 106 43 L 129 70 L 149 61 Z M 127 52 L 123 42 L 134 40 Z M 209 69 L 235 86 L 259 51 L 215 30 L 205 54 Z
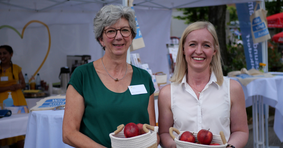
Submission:
M 230 137 L 230 78 L 224 76 L 223 84 L 217 83 L 214 73 L 200 93 L 199 100 L 190 85 L 186 74 L 181 83 L 171 83 L 171 110 L 174 125 L 179 131 L 198 132 L 201 129 L 219 135 L 224 132 Z M 176 133 L 174 132 L 175 136 Z M 177 136 L 176 136 L 177 137 Z

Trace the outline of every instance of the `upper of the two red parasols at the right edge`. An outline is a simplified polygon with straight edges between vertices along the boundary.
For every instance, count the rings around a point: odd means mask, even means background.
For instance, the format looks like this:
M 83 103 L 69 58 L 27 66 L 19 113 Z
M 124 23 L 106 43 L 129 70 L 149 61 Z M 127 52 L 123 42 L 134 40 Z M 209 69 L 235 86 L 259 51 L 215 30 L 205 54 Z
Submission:
M 268 28 L 283 28 L 283 12 L 266 17 Z

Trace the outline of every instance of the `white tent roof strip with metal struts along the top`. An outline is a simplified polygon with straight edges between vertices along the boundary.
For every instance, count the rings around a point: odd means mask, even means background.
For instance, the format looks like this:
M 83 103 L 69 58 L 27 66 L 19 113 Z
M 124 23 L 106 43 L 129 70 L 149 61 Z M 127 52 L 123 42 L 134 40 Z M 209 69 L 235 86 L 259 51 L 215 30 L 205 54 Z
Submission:
M 175 9 L 188 7 L 216 6 L 233 3 L 246 3 L 252 0 L 135 0 L 133 5 L 138 8 Z M 91 5 L 121 4 L 122 0 L 2 0 L 0 3 L 26 10 L 45 11 L 54 8 L 85 11 L 95 10 Z M 67 8 L 68 7 L 68 8 Z

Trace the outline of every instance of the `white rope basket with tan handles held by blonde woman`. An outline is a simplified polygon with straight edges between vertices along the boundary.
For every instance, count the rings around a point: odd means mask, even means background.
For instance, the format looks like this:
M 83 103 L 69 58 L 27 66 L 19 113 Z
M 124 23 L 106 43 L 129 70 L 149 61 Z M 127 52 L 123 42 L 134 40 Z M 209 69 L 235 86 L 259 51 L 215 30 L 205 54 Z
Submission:
M 173 131 L 178 134 L 177 138 L 173 135 Z M 213 138 L 212 138 L 212 141 L 211 141 L 211 142 L 219 143 L 220 145 L 203 145 L 203 144 L 181 141 L 179 139 L 180 139 L 180 136 L 183 134 L 183 132 L 185 132 L 185 131 L 179 132 L 179 130 L 174 128 L 174 127 L 170 127 L 170 129 L 169 129 L 169 134 L 173 138 L 173 140 L 176 142 L 177 148 L 226 148 L 226 146 L 227 146 L 227 142 L 226 142 L 224 133 L 222 131 L 220 132 L 221 136 L 220 135 L 213 135 Z M 198 135 L 198 133 L 194 132 L 196 142 L 198 141 L 197 135 Z

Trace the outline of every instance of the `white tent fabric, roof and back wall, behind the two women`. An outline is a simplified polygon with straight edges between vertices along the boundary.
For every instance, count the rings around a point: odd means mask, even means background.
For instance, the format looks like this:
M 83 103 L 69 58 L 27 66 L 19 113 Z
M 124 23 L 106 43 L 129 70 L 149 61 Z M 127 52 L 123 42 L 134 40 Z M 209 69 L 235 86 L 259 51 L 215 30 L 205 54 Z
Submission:
M 141 62 L 148 63 L 154 73 L 169 74 L 166 44 L 170 43 L 172 9 L 252 1 L 255 0 L 134 0 L 145 47 L 133 52 L 140 53 Z M 102 57 L 104 51 L 94 38 L 92 23 L 99 8 L 109 4 L 122 5 L 122 1 L 0 0 L 0 26 L 9 25 L 22 32 L 31 20 L 48 25 L 51 48 L 38 73 L 47 83 L 55 83 L 60 81 L 60 68 L 67 66 L 67 55 L 91 55 L 90 61 Z M 14 50 L 12 62 L 22 67 L 23 74 L 33 75 L 47 52 L 46 27 L 31 23 L 23 39 L 10 28 L 2 28 L 0 34 L 0 45 L 10 45 Z

